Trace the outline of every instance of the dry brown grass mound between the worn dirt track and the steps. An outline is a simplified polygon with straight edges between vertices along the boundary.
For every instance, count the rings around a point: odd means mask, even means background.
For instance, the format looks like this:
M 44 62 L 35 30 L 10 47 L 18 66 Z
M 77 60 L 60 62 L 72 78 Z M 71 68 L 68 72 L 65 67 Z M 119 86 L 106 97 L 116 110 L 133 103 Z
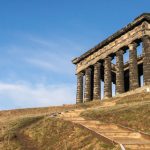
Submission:
M 22 131 L 40 150 L 110 150 L 115 146 L 99 140 L 91 132 L 60 119 L 45 118 Z

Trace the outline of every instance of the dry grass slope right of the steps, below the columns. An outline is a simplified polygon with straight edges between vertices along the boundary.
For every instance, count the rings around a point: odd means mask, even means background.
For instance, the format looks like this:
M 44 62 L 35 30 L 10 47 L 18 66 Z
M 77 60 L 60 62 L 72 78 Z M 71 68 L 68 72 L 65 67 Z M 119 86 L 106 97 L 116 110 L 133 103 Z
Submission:
M 81 115 L 88 119 L 116 123 L 150 134 L 150 94 L 126 96 L 116 100 L 115 106 L 87 110 Z

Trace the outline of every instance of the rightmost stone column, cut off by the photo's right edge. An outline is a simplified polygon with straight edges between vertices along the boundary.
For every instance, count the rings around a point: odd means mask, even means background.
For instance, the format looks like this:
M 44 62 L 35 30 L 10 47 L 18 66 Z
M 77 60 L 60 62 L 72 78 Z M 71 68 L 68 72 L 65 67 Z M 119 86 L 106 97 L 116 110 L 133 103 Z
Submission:
M 144 85 L 150 85 L 150 36 L 145 35 L 142 41 Z

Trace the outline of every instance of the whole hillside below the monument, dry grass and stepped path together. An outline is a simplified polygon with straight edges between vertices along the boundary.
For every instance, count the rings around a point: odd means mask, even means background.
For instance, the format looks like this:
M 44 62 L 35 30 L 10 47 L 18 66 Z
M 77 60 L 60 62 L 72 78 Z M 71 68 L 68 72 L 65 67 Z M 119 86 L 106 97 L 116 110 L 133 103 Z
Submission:
M 149 108 L 150 93 L 139 93 L 80 105 L 1 111 L 0 150 L 150 150 Z

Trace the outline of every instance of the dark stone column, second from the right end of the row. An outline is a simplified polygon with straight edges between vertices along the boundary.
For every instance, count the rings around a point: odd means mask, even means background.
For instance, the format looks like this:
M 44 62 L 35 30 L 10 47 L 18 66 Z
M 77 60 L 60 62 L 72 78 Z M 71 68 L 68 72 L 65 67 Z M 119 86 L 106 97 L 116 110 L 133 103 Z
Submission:
M 138 65 L 137 65 L 137 44 L 129 44 L 129 81 L 130 90 L 134 90 L 139 87 L 138 81 Z

